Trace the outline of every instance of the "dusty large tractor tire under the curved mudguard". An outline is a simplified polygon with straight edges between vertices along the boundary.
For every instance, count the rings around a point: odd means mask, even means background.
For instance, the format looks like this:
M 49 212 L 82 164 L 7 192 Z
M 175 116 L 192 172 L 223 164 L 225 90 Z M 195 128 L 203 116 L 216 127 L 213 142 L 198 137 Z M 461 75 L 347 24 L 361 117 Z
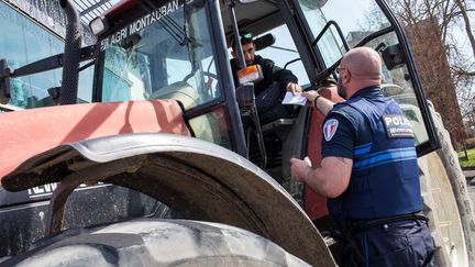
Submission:
M 186 220 L 136 220 L 66 231 L 3 265 L 309 266 L 248 231 Z

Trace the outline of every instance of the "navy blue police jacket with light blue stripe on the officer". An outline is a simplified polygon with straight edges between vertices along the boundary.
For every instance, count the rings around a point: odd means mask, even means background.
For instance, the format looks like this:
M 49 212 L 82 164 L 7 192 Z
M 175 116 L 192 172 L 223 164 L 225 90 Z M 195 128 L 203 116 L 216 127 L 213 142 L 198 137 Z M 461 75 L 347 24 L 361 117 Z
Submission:
M 322 158 L 353 159 L 347 189 L 328 199 L 333 220 L 372 220 L 422 209 L 410 121 L 378 87 L 338 103 L 323 124 Z

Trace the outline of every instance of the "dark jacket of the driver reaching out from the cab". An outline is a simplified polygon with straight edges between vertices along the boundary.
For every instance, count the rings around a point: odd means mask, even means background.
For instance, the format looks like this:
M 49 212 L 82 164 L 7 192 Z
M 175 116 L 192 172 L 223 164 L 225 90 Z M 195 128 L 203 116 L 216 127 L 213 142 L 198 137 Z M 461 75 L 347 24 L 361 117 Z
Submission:
M 274 62 L 270 59 L 263 58 L 262 56 L 255 55 L 254 64 L 261 65 L 261 68 L 264 74 L 264 80 L 254 85 L 255 96 L 257 96 L 264 89 L 268 88 L 273 81 L 278 81 L 281 85 L 284 90 L 288 82 L 297 84 L 298 81 L 297 77 L 290 70 L 277 67 L 274 64 Z M 239 70 L 239 67 L 238 67 L 238 60 L 235 58 L 231 59 L 231 68 L 234 78 L 234 86 L 238 87 L 239 79 L 238 79 L 236 71 Z

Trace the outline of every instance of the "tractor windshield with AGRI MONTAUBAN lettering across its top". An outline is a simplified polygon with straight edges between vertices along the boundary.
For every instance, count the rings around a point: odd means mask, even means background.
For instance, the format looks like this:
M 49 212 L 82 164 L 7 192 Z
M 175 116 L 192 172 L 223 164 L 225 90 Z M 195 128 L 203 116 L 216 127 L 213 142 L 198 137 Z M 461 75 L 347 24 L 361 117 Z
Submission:
M 219 98 L 207 23 L 201 0 L 173 0 L 104 38 L 101 101 L 173 98 L 190 109 Z

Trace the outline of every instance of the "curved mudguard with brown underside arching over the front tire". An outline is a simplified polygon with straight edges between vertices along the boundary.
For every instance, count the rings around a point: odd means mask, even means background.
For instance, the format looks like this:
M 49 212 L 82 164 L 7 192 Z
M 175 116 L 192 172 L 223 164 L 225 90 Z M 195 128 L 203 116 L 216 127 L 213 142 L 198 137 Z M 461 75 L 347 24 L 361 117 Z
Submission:
M 38 154 L 2 179 L 7 190 L 60 181 L 51 232 L 79 183 L 99 181 L 146 193 L 181 219 L 224 223 L 266 237 L 313 266 L 334 266 L 320 233 L 265 171 L 221 146 L 174 134 L 123 134 L 66 144 Z

